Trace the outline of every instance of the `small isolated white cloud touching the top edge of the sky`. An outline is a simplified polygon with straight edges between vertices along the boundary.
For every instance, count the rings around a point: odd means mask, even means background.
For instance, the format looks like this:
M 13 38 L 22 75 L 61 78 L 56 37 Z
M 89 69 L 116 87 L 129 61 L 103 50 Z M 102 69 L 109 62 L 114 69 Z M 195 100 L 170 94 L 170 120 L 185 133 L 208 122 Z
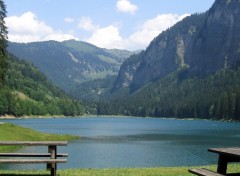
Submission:
M 116 4 L 120 12 L 135 14 L 138 6 L 132 4 L 129 0 L 118 0 Z

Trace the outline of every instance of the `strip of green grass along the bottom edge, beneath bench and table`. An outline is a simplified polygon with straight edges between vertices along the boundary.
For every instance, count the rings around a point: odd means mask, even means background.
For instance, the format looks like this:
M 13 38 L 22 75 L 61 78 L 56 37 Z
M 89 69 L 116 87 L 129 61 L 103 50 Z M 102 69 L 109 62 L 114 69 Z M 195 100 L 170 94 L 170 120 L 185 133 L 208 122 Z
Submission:
M 203 166 L 216 171 L 216 166 Z M 63 169 L 58 176 L 193 176 L 188 169 L 193 167 L 160 167 L 160 168 L 123 168 L 123 169 Z M 199 167 L 197 167 L 199 168 Z M 239 172 L 239 165 L 230 165 L 230 172 Z M 1 171 L 0 175 L 47 175 L 47 171 Z

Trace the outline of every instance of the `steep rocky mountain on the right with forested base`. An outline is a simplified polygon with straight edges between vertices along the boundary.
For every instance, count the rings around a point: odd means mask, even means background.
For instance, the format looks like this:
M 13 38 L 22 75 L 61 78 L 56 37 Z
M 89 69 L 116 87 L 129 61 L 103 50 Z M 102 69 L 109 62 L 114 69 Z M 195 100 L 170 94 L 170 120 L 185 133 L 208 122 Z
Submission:
M 240 120 L 238 31 L 239 0 L 183 19 L 124 61 L 97 113 Z

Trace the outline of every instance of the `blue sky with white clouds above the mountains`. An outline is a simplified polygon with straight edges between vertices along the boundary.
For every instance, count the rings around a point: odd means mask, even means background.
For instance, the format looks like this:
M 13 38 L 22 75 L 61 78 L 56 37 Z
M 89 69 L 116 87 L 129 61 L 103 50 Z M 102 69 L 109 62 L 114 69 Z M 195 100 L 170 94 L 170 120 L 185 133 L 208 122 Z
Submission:
M 145 49 L 162 31 L 214 0 L 5 0 L 12 42 L 75 39 L 101 48 Z

